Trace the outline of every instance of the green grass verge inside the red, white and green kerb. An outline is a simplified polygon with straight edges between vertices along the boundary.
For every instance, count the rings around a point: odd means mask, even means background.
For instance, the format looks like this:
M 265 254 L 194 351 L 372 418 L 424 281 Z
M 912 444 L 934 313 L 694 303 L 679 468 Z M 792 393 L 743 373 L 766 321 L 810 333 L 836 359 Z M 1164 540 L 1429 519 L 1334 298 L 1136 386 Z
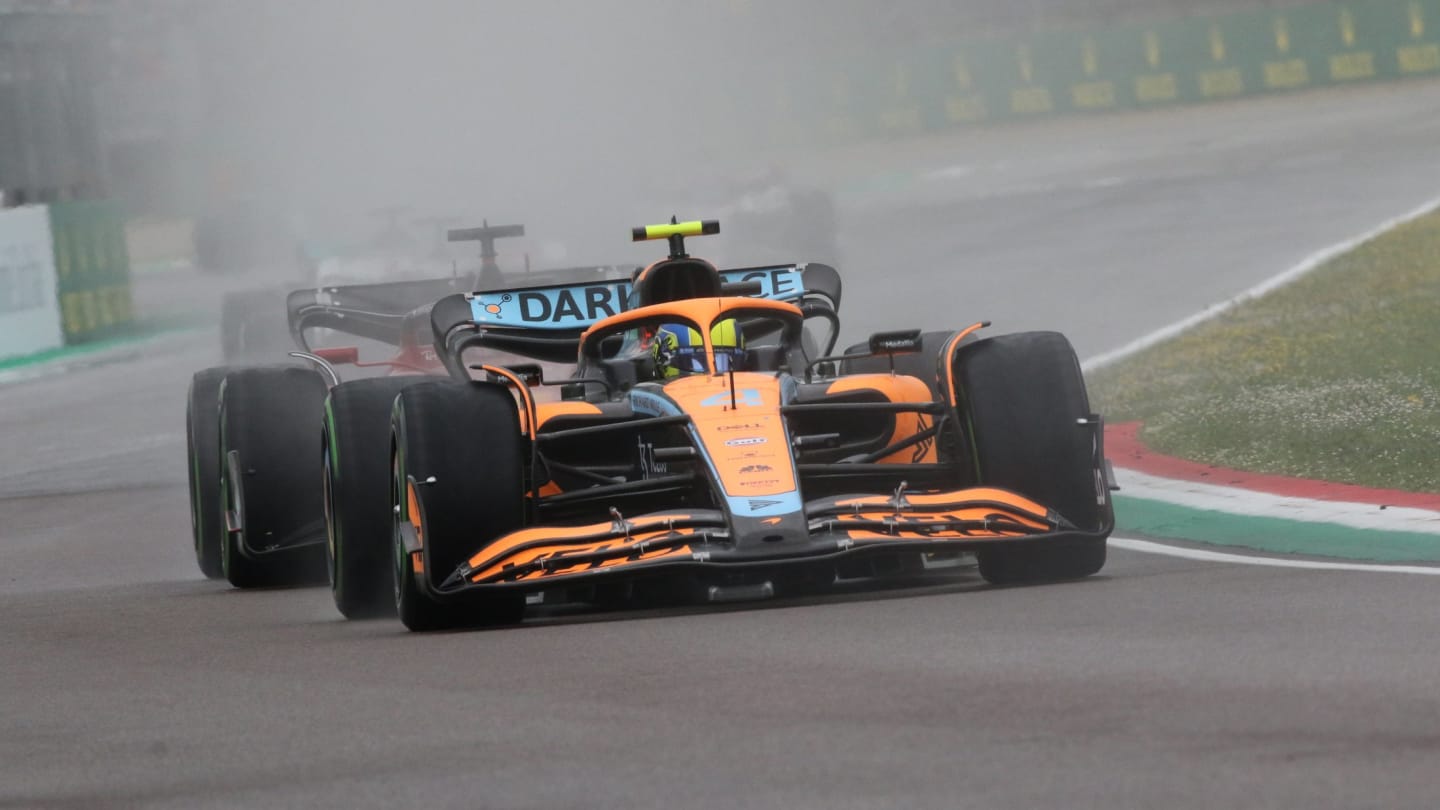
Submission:
M 1440 213 L 1087 375 L 1106 421 L 1253 473 L 1440 491 Z

